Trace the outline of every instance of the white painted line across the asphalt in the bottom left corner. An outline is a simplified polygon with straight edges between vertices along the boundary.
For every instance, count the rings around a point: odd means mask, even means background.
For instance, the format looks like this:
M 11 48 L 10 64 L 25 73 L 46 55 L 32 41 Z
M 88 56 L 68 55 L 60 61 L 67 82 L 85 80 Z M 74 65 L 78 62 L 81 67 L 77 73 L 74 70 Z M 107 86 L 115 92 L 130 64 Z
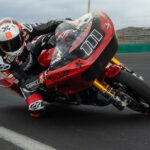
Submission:
M 0 127 L 0 138 L 15 144 L 24 150 L 56 150 L 48 145 L 35 141 L 4 127 Z

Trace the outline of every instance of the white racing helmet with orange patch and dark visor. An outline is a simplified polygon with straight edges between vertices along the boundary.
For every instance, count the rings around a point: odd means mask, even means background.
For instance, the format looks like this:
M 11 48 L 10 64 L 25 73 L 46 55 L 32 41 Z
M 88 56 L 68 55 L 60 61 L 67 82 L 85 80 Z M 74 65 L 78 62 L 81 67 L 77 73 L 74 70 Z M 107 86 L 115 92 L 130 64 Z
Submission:
M 21 25 L 12 18 L 0 20 L 0 50 L 10 56 L 19 56 L 24 49 L 25 40 Z

